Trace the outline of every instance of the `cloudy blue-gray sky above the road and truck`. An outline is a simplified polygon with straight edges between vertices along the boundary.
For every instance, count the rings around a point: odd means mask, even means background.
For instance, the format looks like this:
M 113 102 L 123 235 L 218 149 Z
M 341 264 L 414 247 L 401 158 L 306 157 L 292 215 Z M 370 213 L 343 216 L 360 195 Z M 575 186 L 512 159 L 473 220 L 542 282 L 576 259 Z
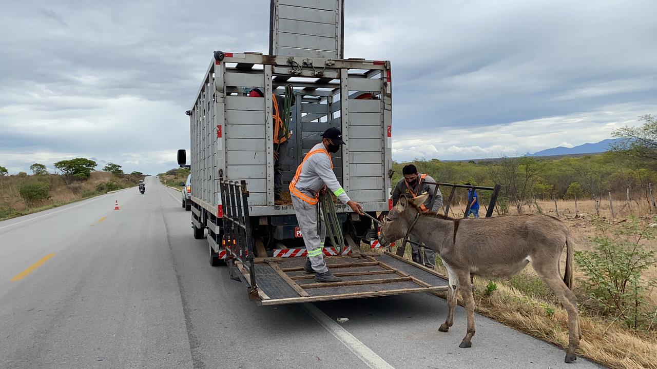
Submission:
M 391 60 L 394 160 L 597 142 L 657 114 L 657 1 L 346 0 L 345 56 Z M 269 1 L 0 5 L 0 165 L 175 167 L 212 51 L 267 52 Z

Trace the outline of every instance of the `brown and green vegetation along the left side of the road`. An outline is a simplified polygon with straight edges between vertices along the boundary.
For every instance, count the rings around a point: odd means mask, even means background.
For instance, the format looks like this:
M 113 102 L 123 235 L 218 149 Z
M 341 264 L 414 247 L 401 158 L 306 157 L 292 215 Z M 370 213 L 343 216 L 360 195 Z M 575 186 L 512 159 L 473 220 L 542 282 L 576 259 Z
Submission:
M 85 198 L 135 186 L 143 173 L 124 173 L 121 165 L 108 163 L 95 171 L 97 163 L 86 158 L 62 160 L 49 173 L 46 165 L 30 165 L 32 174 L 9 175 L 0 167 L 0 221 L 76 202 Z

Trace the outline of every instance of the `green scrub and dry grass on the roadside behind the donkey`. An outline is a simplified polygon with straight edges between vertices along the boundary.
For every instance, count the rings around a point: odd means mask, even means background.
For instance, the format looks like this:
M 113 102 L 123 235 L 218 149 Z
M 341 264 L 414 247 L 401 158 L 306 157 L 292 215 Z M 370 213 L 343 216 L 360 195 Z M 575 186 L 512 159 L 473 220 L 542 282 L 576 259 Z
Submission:
M 570 227 L 583 334 L 578 353 L 612 368 L 657 368 L 656 118 L 643 116 L 641 127 L 616 131 L 629 140 L 603 154 L 413 161 L 438 182 L 501 185 L 493 216 L 546 213 Z M 394 183 L 405 164 L 394 163 Z M 478 194 L 483 217 L 491 193 Z M 455 192 L 449 215 L 463 217 L 466 196 L 465 190 Z M 443 202 L 447 198 L 443 192 Z M 410 246 L 406 251 L 411 259 Z M 440 260 L 436 265 L 446 272 Z M 566 311 L 531 268 L 508 280 L 476 277 L 474 286 L 478 313 L 568 345 Z

